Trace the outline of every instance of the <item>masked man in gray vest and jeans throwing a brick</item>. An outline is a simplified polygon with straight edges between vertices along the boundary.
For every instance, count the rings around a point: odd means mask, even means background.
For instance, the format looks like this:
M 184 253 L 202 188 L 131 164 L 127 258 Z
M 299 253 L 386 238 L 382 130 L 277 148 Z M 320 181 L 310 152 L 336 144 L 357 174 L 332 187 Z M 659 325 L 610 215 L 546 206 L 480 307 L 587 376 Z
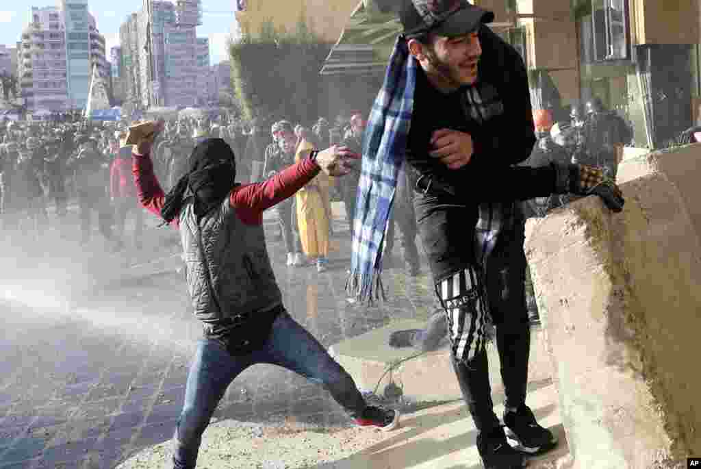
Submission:
M 195 467 L 202 434 L 226 388 L 261 362 L 324 383 L 361 426 L 395 428 L 398 412 L 368 406 L 351 376 L 287 313 L 265 244 L 263 211 L 294 195 L 320 170 L 346 174 L 352 154 L 339 147 L 310 152 L 265 182 L 241 185 L 235 182 L 231 147 L 208 139 L 195 147 L 189 172 L 165 196 L 150 145 L 144 140 L 134 151 L 139 200 L 179 229 L 193 308 L 204 328 L 173 438 L 173 467 Z

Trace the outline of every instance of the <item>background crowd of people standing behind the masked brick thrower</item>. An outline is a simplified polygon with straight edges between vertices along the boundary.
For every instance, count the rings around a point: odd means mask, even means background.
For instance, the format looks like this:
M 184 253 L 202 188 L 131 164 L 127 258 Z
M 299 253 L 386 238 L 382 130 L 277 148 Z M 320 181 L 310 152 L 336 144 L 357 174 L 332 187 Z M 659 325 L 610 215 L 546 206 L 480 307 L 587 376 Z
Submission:
M 47 229 L 69 230 L 64 221 L 70 202 L 77 205 L 80 223 L 79 233 L 67 235 L 76 243 L 90 241 L 96 219 L 109 250 L 118 252 L 128 245 L 125 226 L 133 219 L 132 246 L 140 249 L 144 211 L 137 205 L 130 146 L 125 145 L 128 126 L 135 123 L 138 121 L 0 122 L 0 224 L 4 233 L 36 241 Z M 154 163 L 163 186 L 170 189 L 186 171 L 196 144 L 207 137 L 221 137 L 240 161 L 240 182 L 259 181 L 294 163 L 303 142 L 307 147 L 346 142 L 360 151 L 362 125 L 360 114 L 339 116 L 334 125 L 320 118 L 311 129 L 293 128 L 288 121 L 271 125 L 262 119 L 179 118 L 166 123 L 154 148 Z M 311 260 L 319 271 L 327 268 L 330 200 L 343 198 L 352 207 L 358 177 L 348 179 L 351 184 L 336 184 L 334 178 L 320 176 L 304 193 L 277 209 L 288 265 L 302 266 Z M 348 212 L 349 224 L 351 219 L 352 212 Z

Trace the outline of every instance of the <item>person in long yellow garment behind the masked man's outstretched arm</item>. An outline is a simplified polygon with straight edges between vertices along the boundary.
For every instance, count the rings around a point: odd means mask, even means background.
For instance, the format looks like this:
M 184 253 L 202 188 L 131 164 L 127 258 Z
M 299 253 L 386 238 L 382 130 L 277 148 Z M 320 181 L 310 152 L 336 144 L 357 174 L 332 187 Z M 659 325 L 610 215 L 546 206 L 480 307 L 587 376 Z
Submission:
M 309 149 L 313 149 L 311 132 L 300 130 L 299 144 L 295 161 L 299 161 Z M 297 198 L 297 223 L 299 238 L 307 259 L 316 259 L 316 269 L 323 272 L 329 262 L 329 223 L 331 208 L 329 203 L 329 187 L 332 182 L 322 172 L 300 189 Z

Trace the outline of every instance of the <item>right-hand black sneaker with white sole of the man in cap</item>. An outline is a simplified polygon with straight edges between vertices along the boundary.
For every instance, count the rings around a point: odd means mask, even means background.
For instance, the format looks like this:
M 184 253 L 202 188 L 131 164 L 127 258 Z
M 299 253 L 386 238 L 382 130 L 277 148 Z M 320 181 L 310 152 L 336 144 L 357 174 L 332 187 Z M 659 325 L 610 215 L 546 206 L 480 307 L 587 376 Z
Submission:
M 557 446 L 557 437 L 536 422 L 536 417 L 527 405 L 516 412 L 504 412 L 506 435 L 515 442 L 515 449 L 528 454 L 538 454 Z

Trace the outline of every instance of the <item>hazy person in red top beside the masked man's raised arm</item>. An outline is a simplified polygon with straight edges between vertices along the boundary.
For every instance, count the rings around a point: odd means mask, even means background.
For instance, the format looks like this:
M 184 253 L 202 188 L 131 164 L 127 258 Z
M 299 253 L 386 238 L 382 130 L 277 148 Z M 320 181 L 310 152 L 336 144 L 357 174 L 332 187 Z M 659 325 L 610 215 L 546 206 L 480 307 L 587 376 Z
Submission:
M 119 147 L 109 168 L 109 194 L 114 207 L 114 222 L 118 244 L 123 247 L 124 231 L 127 215 L 134 214 L 134 245 L 142 248 L 144 232 L 144 210 L 139 206 L 136 197 L 136 185 L 132 177 L 132 145 L 127 145 L 126 132 L 118 135 Z

